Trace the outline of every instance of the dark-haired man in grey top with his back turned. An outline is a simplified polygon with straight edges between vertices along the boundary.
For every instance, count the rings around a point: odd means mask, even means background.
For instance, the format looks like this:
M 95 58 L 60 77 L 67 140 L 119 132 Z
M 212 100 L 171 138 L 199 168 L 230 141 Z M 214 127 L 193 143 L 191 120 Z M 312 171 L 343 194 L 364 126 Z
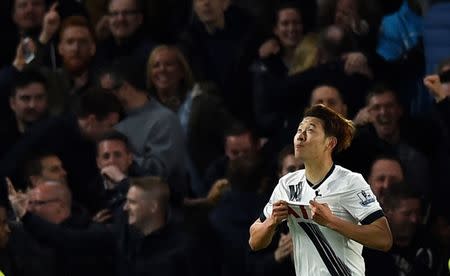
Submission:
M 127 112 L 115 128 L 131 144 L 136 164 L 145 175 L 167 177 L 172 202 L 186 195 L 185 139 L 176 115 L 149 97 L 142 67 L 132 59 L 117 61 L 105 71 L 112 91 Z

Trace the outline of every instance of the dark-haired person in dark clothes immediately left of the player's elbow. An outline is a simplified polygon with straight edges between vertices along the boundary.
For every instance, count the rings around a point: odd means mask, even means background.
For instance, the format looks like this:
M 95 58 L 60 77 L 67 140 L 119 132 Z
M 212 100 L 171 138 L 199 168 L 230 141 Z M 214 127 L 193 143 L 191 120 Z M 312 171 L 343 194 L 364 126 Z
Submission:
M 237 157 L 229 162 L 227 179 L 230 188 L 210 213 L 211 224 L 221 242 L 221 275 L 247 275 L 248 227 L 267 200 L 259 192 L 264 181 L 262 160 L 251 155 Z

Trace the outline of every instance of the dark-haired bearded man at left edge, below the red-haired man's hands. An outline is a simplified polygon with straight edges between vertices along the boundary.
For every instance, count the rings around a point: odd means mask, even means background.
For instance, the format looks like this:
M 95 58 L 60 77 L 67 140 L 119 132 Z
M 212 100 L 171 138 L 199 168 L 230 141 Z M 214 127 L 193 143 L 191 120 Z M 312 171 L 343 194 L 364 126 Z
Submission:
M 28 128 L 46 117 L 47 84 L 44 76 L 36 71 L 19 72 L 13 81 L 9 106 L 13 115 L 2 118 L 0 156 L 11 148 Z

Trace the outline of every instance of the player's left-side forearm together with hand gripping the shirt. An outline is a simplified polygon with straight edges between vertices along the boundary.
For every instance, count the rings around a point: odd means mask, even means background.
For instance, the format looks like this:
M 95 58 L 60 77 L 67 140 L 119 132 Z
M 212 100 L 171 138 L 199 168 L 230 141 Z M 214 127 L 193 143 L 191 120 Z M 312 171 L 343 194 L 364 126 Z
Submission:
M 250 248 L 254 251 L 266 248 L 272 241 L 278 224 L 288 217 L 286 201 L 279 200 L 273 204 L 272 215 L 261 221 L 257 219 L 250 226 Z

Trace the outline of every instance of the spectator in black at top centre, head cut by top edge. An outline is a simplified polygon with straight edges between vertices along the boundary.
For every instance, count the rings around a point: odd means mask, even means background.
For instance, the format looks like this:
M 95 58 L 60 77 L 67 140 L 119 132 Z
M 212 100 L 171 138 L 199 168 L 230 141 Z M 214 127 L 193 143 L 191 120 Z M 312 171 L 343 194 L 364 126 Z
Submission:
M 257 47 L 251 18 L 224 0 L 195 0 L 193 6 L 196 18 L 181 45 L 196 79 L 214 82 L 232 114 L 251 121 L 248 67 Z

